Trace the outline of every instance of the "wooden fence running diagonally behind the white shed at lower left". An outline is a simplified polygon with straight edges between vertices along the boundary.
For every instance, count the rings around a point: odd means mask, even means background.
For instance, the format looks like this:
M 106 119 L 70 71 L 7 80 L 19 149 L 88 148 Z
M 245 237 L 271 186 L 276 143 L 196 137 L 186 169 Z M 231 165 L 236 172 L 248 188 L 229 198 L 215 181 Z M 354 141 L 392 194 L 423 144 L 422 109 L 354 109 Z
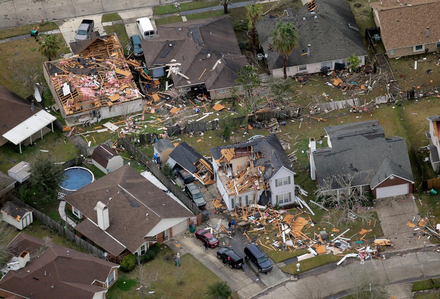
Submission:
M 18 198 L 15 198 L 14 200 L 19 200 Z M 33 207 L 29 206 L 28 204 L 22 202 L 23 205 L 26 206 L 26 208 L 32 210 L 33 217 L 37 218 L 39 221 L 41 221 L 44 225 L 48 226 L 51 229 L 54 229 L 57 231 L 60 235 L 66 236 L 67 239 L 69 239 L 72 242 L 75 242 L 77 245 L 81 246 L 85 250 L 87 250 L 90 254 L 93 254 L 94 256 L 98 258 L 105 258 L 104 252 L 92 244 L 86 242 L 85 240 L 81 239 L 77 235 L 75 235 L 73 232 L 69 230 L 69 224 L 66 222 L 66 227 L 64 227 L 62 224 L 59 224 L 55 220 L 53 220 L 51 217 L 47 216 L 44 213 L 41 213 L 40 211 L 34 209 Z

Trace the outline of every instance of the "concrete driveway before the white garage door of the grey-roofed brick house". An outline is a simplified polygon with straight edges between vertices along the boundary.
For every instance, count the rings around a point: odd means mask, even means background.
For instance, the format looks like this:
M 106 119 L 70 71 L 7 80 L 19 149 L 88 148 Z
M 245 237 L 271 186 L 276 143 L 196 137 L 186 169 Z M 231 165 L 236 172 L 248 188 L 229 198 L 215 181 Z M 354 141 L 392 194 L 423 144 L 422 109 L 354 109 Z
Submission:
M 414 236 L 414 228 L 407 226 L 408 221 L 414 219 L 413 223 L 417 224 L 420 219 L 411 194 L 382 198 L 376 201 L 375 208 L 384 236 L 393 244 L 388 250 L 411 249 L 430 243 L 426 236 L 418 239 L 418 235 Z

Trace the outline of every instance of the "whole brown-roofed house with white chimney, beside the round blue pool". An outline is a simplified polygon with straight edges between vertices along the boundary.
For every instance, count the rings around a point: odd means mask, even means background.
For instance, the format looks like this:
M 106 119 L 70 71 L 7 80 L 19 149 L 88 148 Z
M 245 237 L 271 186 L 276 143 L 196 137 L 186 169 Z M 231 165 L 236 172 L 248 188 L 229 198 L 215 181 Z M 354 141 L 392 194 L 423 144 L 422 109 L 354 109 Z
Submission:
M 184 232 L 194 214 L 182 202 L 129 165 L 64 197 L 82 221 L 75 230 L 107 259 L 119 263 L 127 254 L 143 255 L 156 242 Z

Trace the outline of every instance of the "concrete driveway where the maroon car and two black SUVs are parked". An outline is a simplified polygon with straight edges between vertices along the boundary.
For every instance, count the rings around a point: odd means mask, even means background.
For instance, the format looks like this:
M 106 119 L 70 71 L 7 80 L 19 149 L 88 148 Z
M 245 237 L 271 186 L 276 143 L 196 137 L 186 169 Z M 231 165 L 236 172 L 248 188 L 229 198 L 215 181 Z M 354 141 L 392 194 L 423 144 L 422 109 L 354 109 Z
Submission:
M 209 219 L 208 224 L 204 222 L 200 228 L 206 228 L 208 226 L 215 227 L 220 218 Z M 227 222 L 222 219 L 222 224 L 227 227 Z M 245 257 L 244 248 L 249 244 L 247 239 L 243 240 L 240 233 L 235 232 L 232 237 L 228 237 L 226 234 L 219 233 L 218 239 L 220 240 L 220 247 L 228 246 L 240 255 Z M 216 248 L 208 248 L 205 250 L 202 241 L 196 239 L 194 234 L 188 232 L 174 236 L 173 241 L 167 241 L 169 247 L 179 252 L 180 254 L 190 253 L 197 258 L 208 269 L 216 273 L 221 280 L 226 281 L 231 288 L 238 293 L 240 298 L 247 298 L 249 295 L 253 295 L 260 292 L 264 288 L 271 286 L 279 282 L 280 280 L 290 277 L 286 273 L 283 273 L 277 265 L 273 265 L 273 269 L 267 274 L 258 272 L 257 267 L 250 261 L 245 259 L 245 264 L 240 269 L 231 269 L 229 265 L 222 263 L 217 258 Z

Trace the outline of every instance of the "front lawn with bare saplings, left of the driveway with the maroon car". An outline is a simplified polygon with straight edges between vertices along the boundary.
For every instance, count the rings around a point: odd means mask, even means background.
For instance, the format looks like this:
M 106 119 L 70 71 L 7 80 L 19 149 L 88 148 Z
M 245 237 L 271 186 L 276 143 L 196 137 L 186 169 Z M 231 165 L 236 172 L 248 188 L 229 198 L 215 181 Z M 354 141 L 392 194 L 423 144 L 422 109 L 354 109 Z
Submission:
M 165 261 L 162 258 L 165 255 L 172 256 L 173 253 L 169 248 L 162 247 L 158 254 L 156 254 L 156 257 L 145 264 L 147 269 L 154 272 L 157 271 L 159 277 L 161 277 L 160 281 L 152 284 L 151 291 L 155 292 L 150 296 L 152 299 L 163 298 L 164 295 L 170 299 L 202 299 L 206 296 L 206 287 L 209 284 L 220 281 L 220 278 L 211 272 L 211 270 L 198 262 L 191 254 L 187 253 L 181 256 L 181 266 L 185 271 L 182 280 L 185 281 L 185 285 L 183 287 L 177 287 L 174 262 Z M 119 279 L 107 292 L 107 298 L 140 299 L 141 296 L 136 291 L 138 269 L 135 268 L 130 273 L 119 271 L 118 275 Z

